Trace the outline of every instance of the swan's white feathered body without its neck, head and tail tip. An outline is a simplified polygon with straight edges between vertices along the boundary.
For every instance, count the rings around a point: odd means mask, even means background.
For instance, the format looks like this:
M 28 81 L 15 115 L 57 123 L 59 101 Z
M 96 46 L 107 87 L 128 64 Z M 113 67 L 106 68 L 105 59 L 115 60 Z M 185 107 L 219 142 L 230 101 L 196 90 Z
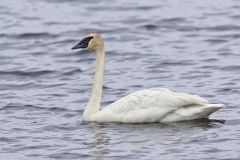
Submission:
M 196 95 L 152 88 L 129 94 L 93 115 L 103 122 L 165 122 L 198 118 L 207 100 Z M 199 115 L 201 116 L 201 115 Z M 190 117 L 190 118 L 189 118 Z

